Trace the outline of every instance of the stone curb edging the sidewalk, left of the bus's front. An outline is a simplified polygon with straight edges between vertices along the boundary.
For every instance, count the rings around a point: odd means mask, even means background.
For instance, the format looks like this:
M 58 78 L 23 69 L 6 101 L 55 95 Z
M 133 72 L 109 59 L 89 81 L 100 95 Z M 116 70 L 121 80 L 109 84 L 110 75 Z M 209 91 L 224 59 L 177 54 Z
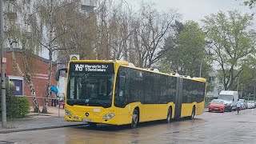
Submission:
M 9 133 L 16 133 L 22 131 L 32 131 L 32 130 L 49 130 L 49 129 L 57 129 L 62 127 L 73 127 L 73 126 L 84 126 L 84 124 L 77 124 L 77 125 L 64 125 L 64 126 L 48 126 L 48 127 L 38 127 L 38 128 L 30 128 L 30 129 L 18 129 L 18 130 L 0 130 L 0 134 L 9 134 Z

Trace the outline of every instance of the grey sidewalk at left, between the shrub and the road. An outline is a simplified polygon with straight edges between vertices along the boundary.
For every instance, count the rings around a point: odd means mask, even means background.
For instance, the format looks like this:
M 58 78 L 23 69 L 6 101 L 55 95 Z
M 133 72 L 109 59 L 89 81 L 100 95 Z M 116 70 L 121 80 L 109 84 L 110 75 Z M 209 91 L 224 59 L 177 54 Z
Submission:
M 85 122 L 66 122 L 63 109 L 60 109 L 61 117 L 58 117 L 58 107 L 49 107 L 49 112 L 50 114 L 30 113 L 28 118 L 7 121 L 8 129 L 0 128 L 0 134 L 85 125 Z

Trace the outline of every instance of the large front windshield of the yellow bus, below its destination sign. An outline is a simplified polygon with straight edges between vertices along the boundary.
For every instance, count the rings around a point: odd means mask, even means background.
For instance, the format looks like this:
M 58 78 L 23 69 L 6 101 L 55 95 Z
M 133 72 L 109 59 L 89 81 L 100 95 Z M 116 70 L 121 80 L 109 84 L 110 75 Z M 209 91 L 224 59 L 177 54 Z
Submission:
M 113 83 L 114 73 L 70 70 L 66 102 L 70 106 L 110 107 Z

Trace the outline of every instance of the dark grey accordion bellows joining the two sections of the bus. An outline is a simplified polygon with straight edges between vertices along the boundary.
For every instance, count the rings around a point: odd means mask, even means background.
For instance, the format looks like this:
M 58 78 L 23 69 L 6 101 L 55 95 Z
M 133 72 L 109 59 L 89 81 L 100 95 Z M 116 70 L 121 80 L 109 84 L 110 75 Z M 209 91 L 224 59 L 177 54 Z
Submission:
M 175 95 L 175 112 L 174 118 L 180 118 L 182 113 L 182 90 L 183 89 L 183 78 L 177 78 L 176 84 L 176 95 Z

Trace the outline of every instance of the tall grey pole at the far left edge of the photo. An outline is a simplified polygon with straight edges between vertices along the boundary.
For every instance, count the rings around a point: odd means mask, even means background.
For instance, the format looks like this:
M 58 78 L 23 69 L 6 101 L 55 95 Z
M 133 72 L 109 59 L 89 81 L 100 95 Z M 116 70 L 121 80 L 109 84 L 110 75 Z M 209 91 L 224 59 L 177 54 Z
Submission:
M 0 49 L 1 49 L 1 107 L 2 128 L 6 128 L 6 57 L 3 48 L 3 1 L 0 0 Z

